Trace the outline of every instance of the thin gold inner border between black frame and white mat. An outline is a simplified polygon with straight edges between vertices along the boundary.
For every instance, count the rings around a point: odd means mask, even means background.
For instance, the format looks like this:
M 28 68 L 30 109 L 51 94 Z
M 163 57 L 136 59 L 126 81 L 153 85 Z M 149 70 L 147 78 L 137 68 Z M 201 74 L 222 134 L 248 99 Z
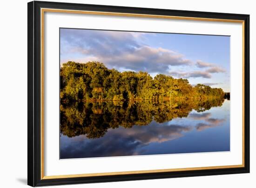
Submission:
M 185 170 L 205 170 L 205 169 L 229 169 L 229 168 L 243 168 L 244 165 L 244 21 L 236 19 L 211 19 L 211 18 L 196 18 L 196 17 L 182 17 L 182 16 L 165 16 L 165 15 L 152 15 L 152 14 L 135 14 L 135 13 L 113 13 L 113 12 L 97 12 L 97 11 L 77 11 L 65 9 L 50 9 L 41 8 L 41 180 L 46 179 L 59 179 L 59 178 L 74 178 L 74 177 L 93 177 L 102 175 L 130 175 L 130 174 L 145 174 L 145 173 L 160 173 L 160 172 L 177 172 Z M 102 173 L 88 173 L 88 174 L 74 174 L 74 175 L 44 175 L 44 13 L 75 13 L 75 14 L 90 14 L 90 15 L 106 15 L 106 16 L 123 16 L 123 17 L 139 17 L 139 18 L 158 18 L 158 19 L 183 19 L 195 21 L 215 21 L 215 22 L 231 22 L 242 23 L 242 76 L 243 76 L 243 125 L 242 125 L 242 164 L 238 165 L 223 165 L 223 166 L 210 166 L 210 167 L 192 167 L 192 168 L 178 168 L 178 169 L 153 169 L 153 170 L 137 170 L 137 171 L 123 171 L 123 172 L 102 172 Z

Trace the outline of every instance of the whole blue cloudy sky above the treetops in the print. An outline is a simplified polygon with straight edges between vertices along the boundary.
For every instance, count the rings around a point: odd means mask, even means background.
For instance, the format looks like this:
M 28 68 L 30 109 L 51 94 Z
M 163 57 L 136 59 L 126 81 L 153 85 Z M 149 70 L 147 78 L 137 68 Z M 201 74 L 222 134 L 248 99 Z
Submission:
M 108 69 L 185 78 L 230 92 L 230 37 L 60 29 L 60 63 L 98 61 Z

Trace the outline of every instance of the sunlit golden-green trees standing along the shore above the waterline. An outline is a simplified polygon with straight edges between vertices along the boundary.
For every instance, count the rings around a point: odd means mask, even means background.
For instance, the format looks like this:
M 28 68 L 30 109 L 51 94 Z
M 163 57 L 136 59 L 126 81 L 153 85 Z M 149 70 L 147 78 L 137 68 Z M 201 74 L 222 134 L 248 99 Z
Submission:
M 187 79 L 147 72 L 119 72 L 103 63 L 67 62 L 61 66 L 61 100 L 159 100 L 223 98 L 221 88 L 189 84 Z

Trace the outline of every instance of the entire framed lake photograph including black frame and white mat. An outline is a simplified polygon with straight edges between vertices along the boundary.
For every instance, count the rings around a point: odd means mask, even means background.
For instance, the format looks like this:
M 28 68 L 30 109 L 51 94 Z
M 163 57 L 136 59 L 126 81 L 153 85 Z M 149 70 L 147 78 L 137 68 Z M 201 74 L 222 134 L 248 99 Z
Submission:
M 28 3 L 28 185 L 249 173 L 249 15 Z

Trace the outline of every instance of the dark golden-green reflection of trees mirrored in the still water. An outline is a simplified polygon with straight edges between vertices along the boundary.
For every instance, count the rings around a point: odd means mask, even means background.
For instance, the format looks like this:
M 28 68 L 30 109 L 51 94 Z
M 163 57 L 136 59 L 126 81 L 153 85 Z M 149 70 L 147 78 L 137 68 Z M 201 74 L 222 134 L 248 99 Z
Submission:
M 224 99 L 213 100 L 144 100 L 76 102 L 61 105 L 61 133 L 68 137 L 86 134 L 100 138 L 109 128 L 148 125 L 153 119 L 158 123 L 187 117 L 197 112 L 222 106 Z

